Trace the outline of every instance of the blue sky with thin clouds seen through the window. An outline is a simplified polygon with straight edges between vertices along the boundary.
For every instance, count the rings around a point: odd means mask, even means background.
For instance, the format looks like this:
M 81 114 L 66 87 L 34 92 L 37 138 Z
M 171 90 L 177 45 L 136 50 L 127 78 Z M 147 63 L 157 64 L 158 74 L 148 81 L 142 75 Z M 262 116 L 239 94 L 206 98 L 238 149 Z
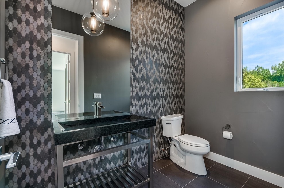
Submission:
M 243 23 L 243 67 L 271 69 L 284 60 L 284 8 Z

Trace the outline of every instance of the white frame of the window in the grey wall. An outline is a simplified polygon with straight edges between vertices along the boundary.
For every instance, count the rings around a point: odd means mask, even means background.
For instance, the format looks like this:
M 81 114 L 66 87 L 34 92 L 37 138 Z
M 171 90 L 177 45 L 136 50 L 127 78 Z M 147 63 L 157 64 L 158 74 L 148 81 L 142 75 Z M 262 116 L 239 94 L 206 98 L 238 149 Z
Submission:
M 266 87 L 266 88 L 242 88 L 242 23 L 252 20 L 254 18 L 271 13 L 278 9 L 284 8 L 284 2 L 277 3 L 267 8 L 261 9 L 249 15 L 235 18 L 235 91 L 284 91 L 284 87 Z

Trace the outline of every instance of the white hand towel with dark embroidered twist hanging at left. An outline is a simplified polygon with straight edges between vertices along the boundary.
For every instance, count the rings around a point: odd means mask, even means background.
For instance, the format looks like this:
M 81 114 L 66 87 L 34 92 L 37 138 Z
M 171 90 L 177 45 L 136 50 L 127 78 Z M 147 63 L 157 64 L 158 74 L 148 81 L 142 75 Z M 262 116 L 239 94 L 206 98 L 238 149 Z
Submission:
M 16 119 L 11 83 L 7 80 L 1 82 L 3 85 L 0 86 L 0 137 L 4 137 L 19 134 L 20 129 Z

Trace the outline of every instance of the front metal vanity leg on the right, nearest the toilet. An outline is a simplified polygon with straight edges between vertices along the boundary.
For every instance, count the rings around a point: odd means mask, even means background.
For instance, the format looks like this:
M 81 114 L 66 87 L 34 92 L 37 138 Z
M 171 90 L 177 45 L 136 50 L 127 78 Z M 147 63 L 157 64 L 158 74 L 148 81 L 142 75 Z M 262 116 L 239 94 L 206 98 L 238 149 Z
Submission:
M 153 187 L 153 127 L 148 128 L 148 136 L 150 138 L 150 143 L 148 143 L 148 175 L 150 181 L 148 187 Z

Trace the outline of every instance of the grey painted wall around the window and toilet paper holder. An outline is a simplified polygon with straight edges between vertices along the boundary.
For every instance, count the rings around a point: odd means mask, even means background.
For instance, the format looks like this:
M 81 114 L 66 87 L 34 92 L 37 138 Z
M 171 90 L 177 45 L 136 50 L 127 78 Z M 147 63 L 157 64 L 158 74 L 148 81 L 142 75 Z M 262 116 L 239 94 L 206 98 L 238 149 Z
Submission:
M 198 0 L 185 8 L 185 126 L 212 152 L 284 176 L 284 91 L 234 92 L 234 17 L 269 2 Z M 232 140 L 222 138 L 226 124 Z

